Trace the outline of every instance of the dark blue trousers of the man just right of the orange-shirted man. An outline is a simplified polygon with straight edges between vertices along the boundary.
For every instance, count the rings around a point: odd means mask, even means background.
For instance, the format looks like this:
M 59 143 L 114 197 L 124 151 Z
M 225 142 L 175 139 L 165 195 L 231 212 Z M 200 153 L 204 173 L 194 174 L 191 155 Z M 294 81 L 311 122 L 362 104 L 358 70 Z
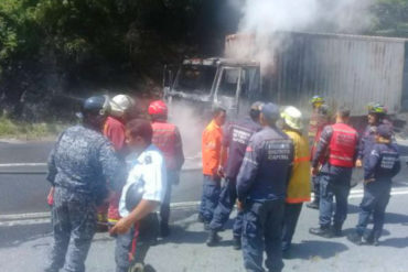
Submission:
M 215 208 L 213 220 L 210 224 L 210 228 L 212 230 L 219 231 L 224 227 L 229 219 L 229 215 L 233 211 L 236 200 L 236 179 L 227 178 L 226 185 L 221 191 L 218 205 Z M 237 217 L 234 221 L 233 232 L 234 237 L 240 238 L 243 232 L 243 211 L 238 210 Z

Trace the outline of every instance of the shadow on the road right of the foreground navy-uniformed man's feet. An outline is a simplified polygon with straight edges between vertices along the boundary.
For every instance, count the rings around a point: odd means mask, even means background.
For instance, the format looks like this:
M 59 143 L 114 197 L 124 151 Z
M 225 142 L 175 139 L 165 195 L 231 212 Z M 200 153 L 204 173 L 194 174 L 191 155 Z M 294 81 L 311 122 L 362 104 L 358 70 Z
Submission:
M 346 250 L 348 248 L 340 242 L 304 240 L 292 244 L 290 259 L 329 259 Z

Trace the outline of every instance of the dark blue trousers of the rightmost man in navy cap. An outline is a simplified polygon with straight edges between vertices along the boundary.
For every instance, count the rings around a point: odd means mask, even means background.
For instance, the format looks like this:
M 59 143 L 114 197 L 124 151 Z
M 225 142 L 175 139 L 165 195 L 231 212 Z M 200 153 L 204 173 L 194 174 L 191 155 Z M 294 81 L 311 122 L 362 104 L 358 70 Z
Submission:
M 358 235 L 364 235 L 369 216 L 373 214 L 374 227 L 371 235 L 376 239 L 382 236 L 385 209 L 389 202 L 390 189 L 390 182 L 372 182 L 364 186 L 364 197 L 359 204 L 358 224 L 356 226 Z

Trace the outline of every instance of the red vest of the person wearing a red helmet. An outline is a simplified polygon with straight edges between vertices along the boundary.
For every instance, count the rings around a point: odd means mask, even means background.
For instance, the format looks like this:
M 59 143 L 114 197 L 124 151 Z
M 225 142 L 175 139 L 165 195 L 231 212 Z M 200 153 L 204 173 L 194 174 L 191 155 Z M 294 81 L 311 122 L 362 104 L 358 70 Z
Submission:
M 176 127 L 167 122 L 153 122 L 152 142 L 163 153 L 165 166 L 175 170 L 175 131 Z

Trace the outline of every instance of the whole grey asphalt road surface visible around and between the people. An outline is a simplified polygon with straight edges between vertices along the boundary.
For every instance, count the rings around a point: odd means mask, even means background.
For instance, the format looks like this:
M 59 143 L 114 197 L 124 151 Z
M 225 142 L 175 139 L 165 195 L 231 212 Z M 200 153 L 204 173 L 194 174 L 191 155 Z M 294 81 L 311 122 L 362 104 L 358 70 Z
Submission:
M 52 142 L 10 143 L 0 142 L 0 172 L 43 172 Z M 402 154 L 408 149 L 402 146 Z M 8 164 L 22 163 L 20 166 Z M 29 165 L 25 165 L 28 164 Z M 34 164 L 32 164 L 34 163 Z M 36 165 L 35 163 L 40 163 Z M 408 272 L 408 167 L 402 164 L 401 173 L 394 181 L 394 195 L 387 208 L 384 237 L 379 247 L 356 247 L 345 237 L 322 239 L 309 235 L 308 229 L 318 224 L 318 211 L 303 208 L 296 236 L 292 258 L 286 261 L 284 271 L 367 271 Z M 355 171 L 353 178 L 361 179 Z M 197 202 L 201 196 L 202 174 L 200 171 L 184 171 L 181 183 L 174 187 L 173 204 Z M 50 185 L 44 174 L 0 174 L 0 271 L 42 271 L 52 241 L 50 218 L 24 219 L 25 214 L 49 211 L 45 196 Z M 362 187 L 353 188 L 345 233 L 355 226 Z M 207 248 L 207 233 L 196 222 L 195 206 L 191 203 L 172 211 L 172 236 L 153 247 L 147 261 L 157 271 L 244 271 L 241 253 L 232 249 L 232 232 L 222 232 L 219 247 Z M 47 214 L 47 213 L 44 213 Z M 4 215 L 13 215 L 11 222 L 3 224 Z M 9 222 L 8 221 L 8 222 Z M 12 226 L 12 227 L 11 227 Z M 227 225 L 230 228 L 232 222 Z M 87 259 L 87 271 L 114 271 L 115 241 L 105 233 L 98 233 Z

